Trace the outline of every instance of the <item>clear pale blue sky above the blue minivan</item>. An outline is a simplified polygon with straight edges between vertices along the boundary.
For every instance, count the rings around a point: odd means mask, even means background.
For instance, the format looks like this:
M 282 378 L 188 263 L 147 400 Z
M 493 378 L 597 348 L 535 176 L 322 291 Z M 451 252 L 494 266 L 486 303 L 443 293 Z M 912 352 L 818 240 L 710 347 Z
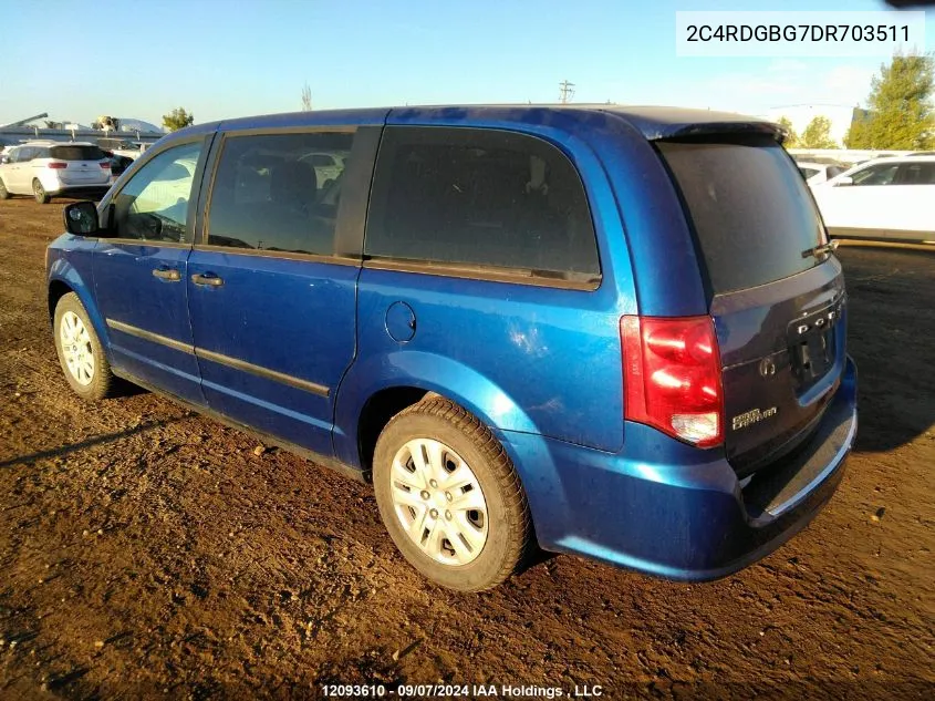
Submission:
M 772 7 L 779 7 L 776 3 Z M 86 11 L 80 7 L 87 8 Z M 74 0 L 10 2 L 0 124 L 48 112 L 162 124 L 301 107 L 555 102 L 761 114 L 863 103 L 880 58 L 678 58 L 676 10 L 756 0 Z M 783 10 L 881 10 L 882 0 L 791 0 Z M 935 49 L 935 11 L 926 12 Z M 20 66 L 18 70 L 12 66 Z

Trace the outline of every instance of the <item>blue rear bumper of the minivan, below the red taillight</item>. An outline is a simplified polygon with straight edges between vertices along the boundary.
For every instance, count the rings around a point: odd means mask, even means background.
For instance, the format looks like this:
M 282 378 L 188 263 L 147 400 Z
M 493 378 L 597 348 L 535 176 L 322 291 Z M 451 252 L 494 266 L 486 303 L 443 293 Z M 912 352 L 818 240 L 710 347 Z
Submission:
M 627 423 L 625 453 L 508 434 L 540 545 L 685 581 L 725 577 L 804 528 L 834 493 L 856 433 L 856 368 L 812 437 L 742 483 L 713 451 Z

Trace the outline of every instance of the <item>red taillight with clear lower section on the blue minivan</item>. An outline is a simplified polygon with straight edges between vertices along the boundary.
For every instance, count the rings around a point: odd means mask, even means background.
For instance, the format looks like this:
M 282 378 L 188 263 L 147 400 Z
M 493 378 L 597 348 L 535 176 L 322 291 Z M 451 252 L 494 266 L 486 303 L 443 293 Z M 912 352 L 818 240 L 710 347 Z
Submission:
M 710 317 L 623 317 L 624 417 L 699 447 L 724 440 L 720 353 Z

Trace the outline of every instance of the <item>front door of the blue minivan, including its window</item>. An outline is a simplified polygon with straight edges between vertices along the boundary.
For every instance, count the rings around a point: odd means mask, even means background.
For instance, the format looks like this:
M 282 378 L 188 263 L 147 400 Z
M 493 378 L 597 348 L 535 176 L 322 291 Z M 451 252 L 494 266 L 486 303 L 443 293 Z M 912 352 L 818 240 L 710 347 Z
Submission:
M 110 202 L 110 236 L 94 251 L 97 305 L 120 373 L 204 403 L 188 322 L 193 186 L 204 135 L 150 158 Z

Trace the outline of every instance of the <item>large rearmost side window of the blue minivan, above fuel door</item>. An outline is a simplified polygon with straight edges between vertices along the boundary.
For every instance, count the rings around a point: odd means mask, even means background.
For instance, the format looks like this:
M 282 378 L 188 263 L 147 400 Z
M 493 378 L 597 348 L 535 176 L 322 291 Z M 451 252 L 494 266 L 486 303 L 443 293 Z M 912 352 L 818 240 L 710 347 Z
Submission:
M 600 274 L 581 178 L 550 144 L 468 128 L 388 127 L 367 255 L 526 271 Z

